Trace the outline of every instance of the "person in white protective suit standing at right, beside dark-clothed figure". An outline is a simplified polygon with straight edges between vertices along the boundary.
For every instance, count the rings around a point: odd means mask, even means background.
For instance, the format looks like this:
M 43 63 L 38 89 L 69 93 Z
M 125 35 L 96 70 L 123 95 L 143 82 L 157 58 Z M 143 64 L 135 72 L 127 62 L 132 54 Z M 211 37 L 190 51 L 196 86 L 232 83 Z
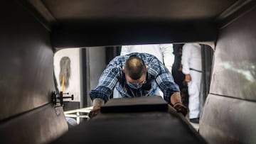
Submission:
M 201 113 L 200 99 L 202 96 L 201 45 L 198 43 L 186 43 L 183 45 L 181 65 L 182 72 L 185 74 L 185 81 L 188 83 L 189 120 L 192 123 L 199 123 Z

